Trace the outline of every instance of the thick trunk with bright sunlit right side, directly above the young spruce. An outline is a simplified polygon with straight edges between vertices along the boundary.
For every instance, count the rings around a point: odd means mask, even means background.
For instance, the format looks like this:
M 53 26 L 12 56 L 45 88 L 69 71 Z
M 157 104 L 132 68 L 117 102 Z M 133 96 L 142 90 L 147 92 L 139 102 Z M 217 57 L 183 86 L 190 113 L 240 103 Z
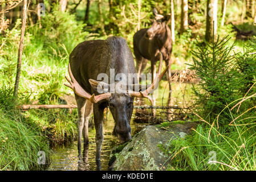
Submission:
M 207 0 L 205 40 L 212 42 L 217 32 L 218 0 Z M 214 36 L 213 36 L 214 35 Z

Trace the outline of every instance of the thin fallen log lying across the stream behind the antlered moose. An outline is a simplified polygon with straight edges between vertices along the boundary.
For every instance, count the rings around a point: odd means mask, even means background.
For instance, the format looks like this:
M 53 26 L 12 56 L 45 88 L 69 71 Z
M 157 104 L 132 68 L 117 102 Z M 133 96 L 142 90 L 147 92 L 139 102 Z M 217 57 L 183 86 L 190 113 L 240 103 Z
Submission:
M 78 108 L 77 105 L 21 105 L 21 109 L 75 109 Z M 134 109 L 189 109 L 182 108 L 178 106 L 133 106 Z

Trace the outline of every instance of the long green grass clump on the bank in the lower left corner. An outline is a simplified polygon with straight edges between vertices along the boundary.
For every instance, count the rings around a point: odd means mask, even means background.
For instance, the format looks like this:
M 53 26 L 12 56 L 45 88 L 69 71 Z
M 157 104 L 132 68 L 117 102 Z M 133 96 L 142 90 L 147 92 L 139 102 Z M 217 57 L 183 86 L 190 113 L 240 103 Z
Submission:
M 43 169 L 37 162 L 39 151 L 44 151 L 48 158 L 50 148 L 46 137 L 29 124 L 14 103 L 13 89 L 1 88 L 0 170 Z

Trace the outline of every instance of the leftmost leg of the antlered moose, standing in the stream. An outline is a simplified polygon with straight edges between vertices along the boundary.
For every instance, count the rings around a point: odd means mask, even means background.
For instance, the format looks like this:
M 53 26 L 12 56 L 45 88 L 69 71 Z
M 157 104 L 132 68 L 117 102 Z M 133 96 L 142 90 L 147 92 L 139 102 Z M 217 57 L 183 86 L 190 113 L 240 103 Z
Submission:
M 82 132 L 84 127 L 84 111 L 86 106 L 86 99 L 79 97 L 75 94 L 76 104 L 78 105 L 78 155 L 82 156 L 81 143 L 82 143 Z

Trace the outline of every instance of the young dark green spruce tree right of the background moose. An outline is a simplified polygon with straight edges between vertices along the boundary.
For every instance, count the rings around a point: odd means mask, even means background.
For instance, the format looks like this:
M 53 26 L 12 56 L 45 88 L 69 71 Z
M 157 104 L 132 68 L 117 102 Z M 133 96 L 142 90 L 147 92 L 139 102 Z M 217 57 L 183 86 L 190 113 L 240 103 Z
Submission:
M 242 77 L 234 64 L 235 55 L 231 55 L 234 46 L 227 47 L 229 39 L 217 40 L 206 46 L 199 46 L 193 53 L 193 65 L 190 69 L 196 71 L 201 79 L 194 94 L 197 104 L 204 108 L 204 115 L 213 117 L 220 113 L 227 103 L 239 98 Z

